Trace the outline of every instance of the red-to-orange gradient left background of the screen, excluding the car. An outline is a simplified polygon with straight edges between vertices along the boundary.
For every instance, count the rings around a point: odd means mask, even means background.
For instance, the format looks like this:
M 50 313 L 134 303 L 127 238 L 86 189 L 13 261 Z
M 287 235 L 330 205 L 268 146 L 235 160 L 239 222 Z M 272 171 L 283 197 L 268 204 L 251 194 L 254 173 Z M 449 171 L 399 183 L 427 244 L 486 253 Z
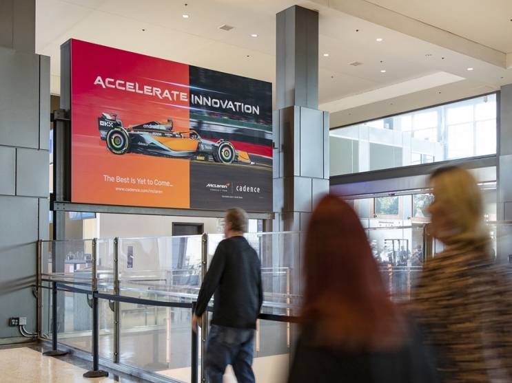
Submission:
M 189 160 L 114 155 L 98 129 L 104 112 L 116 113 L 123 127 L 172 118 L 174 130 L 188 130 L 188 65 L 77 40 L 71 42 L 71 57 L 72 201 L 189 208 Z M 107 87 L 117 81 L 142 93 Z M 155 88 L 161 96 L 167 89 L 170 97 L 159 97 Z

